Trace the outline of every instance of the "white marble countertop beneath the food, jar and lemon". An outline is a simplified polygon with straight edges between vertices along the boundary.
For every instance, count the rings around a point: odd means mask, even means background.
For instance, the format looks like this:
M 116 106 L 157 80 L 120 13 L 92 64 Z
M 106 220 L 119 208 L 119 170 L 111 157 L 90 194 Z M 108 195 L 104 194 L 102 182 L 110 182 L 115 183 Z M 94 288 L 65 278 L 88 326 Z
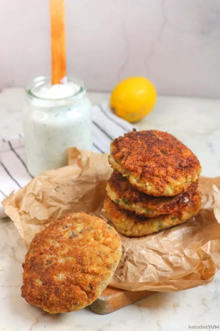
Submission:
M 93 104 L 109 97 L 108 93 L 88 95 Z M 1 91 L 1 137 L 22 132 L 20 109 L 24 98 L 21 88 Z M 159 96 L 153 112 L 137 126 L 169 131 L 198 156 L 202 175 L 220 175 L 219 99 Z M 21 264 L 26 248 L 9 218 L 0 219 L 0 226 L 0 331 L 184 331 L 189 326 L 220 325 L 220 273 L 209 285 L 153 294 L 109 315 L 95 314 L 89 308 L 57 315 L 45 313 L 21 298 Z

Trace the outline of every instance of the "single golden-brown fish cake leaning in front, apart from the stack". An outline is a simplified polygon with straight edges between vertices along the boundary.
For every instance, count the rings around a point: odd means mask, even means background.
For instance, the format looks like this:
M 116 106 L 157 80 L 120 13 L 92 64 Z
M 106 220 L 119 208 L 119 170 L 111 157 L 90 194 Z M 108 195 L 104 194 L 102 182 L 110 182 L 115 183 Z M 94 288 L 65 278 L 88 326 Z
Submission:
M 67 214 L 35 235 L 23 263 L 22 297 L 49 313 L 79 310 L 100 296 L 121 255 L 120 237 L 104 220 Z

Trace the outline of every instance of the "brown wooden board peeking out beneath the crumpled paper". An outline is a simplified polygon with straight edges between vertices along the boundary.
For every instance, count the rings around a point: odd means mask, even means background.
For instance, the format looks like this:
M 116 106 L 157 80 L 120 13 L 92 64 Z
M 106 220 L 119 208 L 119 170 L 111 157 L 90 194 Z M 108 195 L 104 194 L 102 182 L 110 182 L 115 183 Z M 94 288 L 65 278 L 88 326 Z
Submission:
M 101 296 L 89 307 L 98 314 L 109 314 L 117 309 L 128 306 L 133 302 L 146 298 L 155 292 L 126 291 L 108 286 Z

